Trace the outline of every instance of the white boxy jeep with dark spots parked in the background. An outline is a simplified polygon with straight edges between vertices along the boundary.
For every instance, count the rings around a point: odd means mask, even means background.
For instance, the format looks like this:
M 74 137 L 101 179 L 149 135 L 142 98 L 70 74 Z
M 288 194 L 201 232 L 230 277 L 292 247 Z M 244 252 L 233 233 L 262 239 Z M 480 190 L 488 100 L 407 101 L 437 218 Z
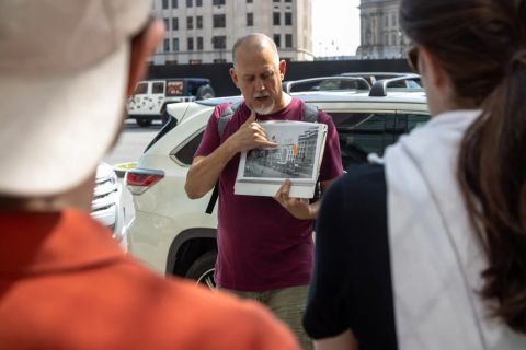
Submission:
M 168 120 L 167 105 L 215 96 L 210 81 L 204 78 L 176 78 L 140 81 L 126 104 L 128 118 L 141 127 L 152 120 Z

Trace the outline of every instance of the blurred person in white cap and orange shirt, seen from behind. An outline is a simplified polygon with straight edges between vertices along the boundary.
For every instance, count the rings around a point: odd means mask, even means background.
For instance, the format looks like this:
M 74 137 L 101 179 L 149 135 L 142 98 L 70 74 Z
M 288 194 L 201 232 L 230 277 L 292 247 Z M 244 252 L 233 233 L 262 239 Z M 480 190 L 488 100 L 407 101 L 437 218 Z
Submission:
M 155 275 L 89 214 L 163 36 L 150 9 L 0 2 L 0 349 L 297 349 L 263 307 Z

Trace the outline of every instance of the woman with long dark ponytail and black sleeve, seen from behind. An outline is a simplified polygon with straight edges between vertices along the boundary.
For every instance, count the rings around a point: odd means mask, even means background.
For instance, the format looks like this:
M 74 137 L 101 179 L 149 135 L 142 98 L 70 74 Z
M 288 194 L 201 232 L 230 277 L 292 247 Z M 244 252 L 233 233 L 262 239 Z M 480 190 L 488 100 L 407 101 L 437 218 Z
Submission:
M 526 349 L 526 1 L 402 0 L 431 121 L 324 197 L 318 349 Z

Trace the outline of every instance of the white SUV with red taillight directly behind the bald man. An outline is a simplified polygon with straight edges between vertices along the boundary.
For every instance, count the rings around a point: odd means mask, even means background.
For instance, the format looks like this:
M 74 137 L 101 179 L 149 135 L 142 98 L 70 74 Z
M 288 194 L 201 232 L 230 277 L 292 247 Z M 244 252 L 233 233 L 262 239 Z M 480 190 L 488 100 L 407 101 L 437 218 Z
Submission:
M 371 153 L 381 156 L 386 147 L 430 118 L 424 92 L 386 91 L 381 96 L 378 89 L 370 92 L 317 91 L 294 95 L 332 116 L 346 167 L 367 162 Z M 373 92 L 380 96 L 369 95 Z M 240 98 L 169 105 L 173 119 L 148 145 L 137 167 L 126 174 L 135 207 L 135 218 L 127 226 L 129 250 L 161 273 L 215 285 L 217 215 L 210 202 L 211 191 L 190 200 L 184 182 L 214 107 Z

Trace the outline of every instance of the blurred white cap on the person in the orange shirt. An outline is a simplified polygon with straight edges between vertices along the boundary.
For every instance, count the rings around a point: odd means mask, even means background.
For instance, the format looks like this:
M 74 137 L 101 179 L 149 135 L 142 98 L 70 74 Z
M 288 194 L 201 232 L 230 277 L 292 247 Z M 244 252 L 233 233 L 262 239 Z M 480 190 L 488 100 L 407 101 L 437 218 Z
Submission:
M 0 195 L 94 172 L 123 124 L 130 38 L 150 0 L 0 1 Z

